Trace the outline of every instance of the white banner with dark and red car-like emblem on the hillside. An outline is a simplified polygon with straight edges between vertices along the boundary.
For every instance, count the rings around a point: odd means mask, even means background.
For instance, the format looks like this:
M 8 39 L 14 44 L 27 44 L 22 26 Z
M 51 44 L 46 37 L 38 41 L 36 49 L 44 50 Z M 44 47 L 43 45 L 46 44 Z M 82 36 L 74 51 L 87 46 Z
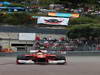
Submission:
M 69 18 L 39 17 L 37 24 L 68 25 Z

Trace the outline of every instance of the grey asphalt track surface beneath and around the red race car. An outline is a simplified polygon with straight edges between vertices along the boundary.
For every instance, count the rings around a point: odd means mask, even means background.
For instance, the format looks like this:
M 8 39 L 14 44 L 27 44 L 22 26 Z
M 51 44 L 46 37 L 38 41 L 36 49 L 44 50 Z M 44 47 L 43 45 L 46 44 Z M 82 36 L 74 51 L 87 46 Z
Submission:
M 100 56 L 69 56 L 66 65 L 16 65 L 0 57 L 0 75 L 100 75 Z

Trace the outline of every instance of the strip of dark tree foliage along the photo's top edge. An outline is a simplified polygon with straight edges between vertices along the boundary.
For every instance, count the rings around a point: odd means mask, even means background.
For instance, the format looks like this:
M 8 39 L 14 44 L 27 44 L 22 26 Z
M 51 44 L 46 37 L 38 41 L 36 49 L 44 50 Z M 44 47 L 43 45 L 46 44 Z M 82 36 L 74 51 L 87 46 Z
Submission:
M 10 1 L 17 3 L 25 3 L 30 6 L 36 3 L 39 6 L 47 6 L 49 4 L 64 4 L 66 7 L 77 8 L 77 7 L 100 7 L 100 0 L 0 0 Z M 33 4 L 32 4 L 33 3 Z

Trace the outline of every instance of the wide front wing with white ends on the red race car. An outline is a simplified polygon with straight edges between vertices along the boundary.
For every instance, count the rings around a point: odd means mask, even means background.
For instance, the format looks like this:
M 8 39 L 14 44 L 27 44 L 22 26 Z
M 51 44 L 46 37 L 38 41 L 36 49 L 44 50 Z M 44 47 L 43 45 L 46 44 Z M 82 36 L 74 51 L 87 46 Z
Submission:
M 65 57 L 62 58 L 58 58 L 58 59 L 54 59 L 55 57 L 49 57 L 49 58 L 33 58 L 33 57 L 20 57 L 17 58 L 16 63 L 17 64 L 37 64 L 37 63 L 46 63 L 46 64 L 65 64 L 66 63 L 66 59 Z

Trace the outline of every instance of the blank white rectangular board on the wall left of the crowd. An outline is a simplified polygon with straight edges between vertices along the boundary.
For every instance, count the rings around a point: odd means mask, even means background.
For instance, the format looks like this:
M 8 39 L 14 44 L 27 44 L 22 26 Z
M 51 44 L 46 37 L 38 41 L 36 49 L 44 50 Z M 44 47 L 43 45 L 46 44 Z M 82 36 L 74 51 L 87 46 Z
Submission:
M 19 33 L 19 40 L 35 40 L 35 33 Z

